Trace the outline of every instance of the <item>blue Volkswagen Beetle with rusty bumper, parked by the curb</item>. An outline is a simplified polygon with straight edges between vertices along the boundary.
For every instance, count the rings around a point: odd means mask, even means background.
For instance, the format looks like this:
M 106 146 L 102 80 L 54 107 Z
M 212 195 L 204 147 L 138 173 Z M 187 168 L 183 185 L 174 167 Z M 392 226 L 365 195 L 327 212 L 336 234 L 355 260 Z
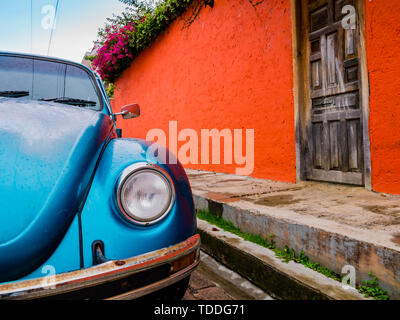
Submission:
M 121 138 L 139 106 L 113 113 L 83 65 L 0 52 L 0 113 L 0 299 L 181 298 L 192 193 L 165 149 Z

